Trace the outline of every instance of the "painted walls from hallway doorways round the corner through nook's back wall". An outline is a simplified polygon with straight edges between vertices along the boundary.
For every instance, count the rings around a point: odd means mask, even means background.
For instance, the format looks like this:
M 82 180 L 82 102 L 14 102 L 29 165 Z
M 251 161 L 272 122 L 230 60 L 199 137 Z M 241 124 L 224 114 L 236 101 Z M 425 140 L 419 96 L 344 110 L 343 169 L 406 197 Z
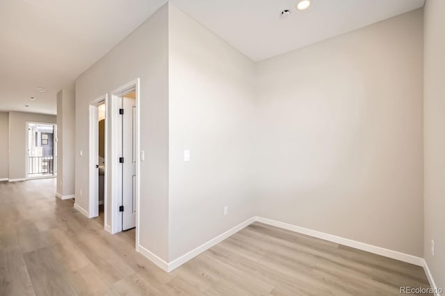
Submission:
M 140 245 L 164 261 L 252 215 L 422 256 L 422 24 L 416 10 L 255 65 L 163 6 L 76 80 L 76 203 L 88 102 L 139 77 Z

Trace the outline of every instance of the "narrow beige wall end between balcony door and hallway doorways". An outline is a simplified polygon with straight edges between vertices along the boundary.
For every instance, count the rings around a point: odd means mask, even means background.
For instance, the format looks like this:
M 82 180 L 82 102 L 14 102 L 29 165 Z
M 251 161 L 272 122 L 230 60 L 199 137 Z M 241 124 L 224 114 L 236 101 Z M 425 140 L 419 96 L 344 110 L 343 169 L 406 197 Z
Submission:
M 57 193 L 74 195 L 75 93 L 63 89 L 57 94 Z

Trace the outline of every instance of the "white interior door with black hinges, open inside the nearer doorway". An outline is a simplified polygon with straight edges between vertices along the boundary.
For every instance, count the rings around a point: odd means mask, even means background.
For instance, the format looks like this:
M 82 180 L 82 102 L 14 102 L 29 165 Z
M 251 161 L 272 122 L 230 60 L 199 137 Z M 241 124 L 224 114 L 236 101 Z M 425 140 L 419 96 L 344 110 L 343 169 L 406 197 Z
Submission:
M 122 230 L 136 227 L 136 99 L 122 97 Z

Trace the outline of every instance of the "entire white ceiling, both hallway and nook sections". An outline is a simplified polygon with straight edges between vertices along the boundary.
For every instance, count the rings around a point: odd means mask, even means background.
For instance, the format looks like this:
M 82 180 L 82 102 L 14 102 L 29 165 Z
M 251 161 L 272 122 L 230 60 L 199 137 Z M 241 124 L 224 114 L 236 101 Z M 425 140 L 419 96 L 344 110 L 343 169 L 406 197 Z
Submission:
M 0 0 L 0 110 L 56 114 L 56 93 L 166 0 Z M 421 8 L 424 0 L 171 0 L 252 60 Z M 291 10 L 285 19 L 284 9 Z M 36 88 L 45 88 L 38 93 Z M 31 101 L 29 97 L 37 97 Z M 29 105 L 29 107 L 25 107 Z

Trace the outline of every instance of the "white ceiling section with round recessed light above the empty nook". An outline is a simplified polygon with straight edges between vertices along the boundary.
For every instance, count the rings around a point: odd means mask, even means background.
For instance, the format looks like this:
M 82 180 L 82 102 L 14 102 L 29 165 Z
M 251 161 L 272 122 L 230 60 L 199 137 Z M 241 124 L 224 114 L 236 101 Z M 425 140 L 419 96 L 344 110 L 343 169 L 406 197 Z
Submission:
M 312 0 L 304 11 L 296 10 L 296 0 L 172 3 L 258 61 L 421 8 L 424 0 Z M 284 9 L 289 17 L 281 17 Z

